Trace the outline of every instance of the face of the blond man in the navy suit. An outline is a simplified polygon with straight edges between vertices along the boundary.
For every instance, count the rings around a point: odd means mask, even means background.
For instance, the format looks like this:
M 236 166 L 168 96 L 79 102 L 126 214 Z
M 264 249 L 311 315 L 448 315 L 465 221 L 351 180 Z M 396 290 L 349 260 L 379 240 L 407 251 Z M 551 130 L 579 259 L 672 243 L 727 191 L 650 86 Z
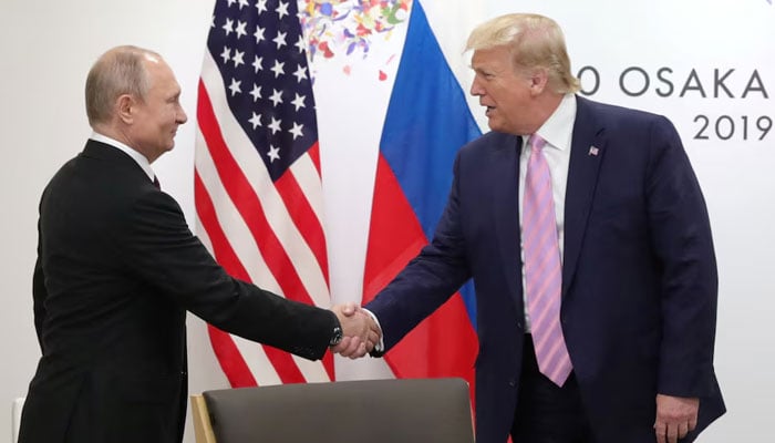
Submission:
M 475 72 L 471 94 L 486 106 L 489 128 L 515 135 L 530 134 L 535 127 L 530 115 L 531 79 L 517 72 L 506 47 L 474 52 L 471 65 Z

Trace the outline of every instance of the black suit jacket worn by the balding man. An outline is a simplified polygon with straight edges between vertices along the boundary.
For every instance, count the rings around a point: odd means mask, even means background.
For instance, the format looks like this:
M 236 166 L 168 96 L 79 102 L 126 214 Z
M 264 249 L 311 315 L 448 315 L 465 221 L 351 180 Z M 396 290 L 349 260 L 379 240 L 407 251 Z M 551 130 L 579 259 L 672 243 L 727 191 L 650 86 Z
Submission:
M 180 208 L 117 148 L 90 141 L 40 205 L 33 278 L 42 348 L 20 442 L 179 442 L 186 310 L 308 359 L 332 312 L 229 277 Z

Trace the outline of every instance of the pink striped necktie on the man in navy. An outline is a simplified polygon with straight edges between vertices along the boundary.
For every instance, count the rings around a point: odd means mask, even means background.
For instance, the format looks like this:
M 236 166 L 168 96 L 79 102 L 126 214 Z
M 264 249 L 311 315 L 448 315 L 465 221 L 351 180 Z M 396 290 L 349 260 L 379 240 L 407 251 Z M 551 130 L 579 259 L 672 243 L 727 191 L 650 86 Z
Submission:
M 525 290 L 538 369 L 561 387 L 572 365 L 560 326 L 562 268 L 545 145 L 546 141 L 538 134 L 530 137 L 523 199 Z

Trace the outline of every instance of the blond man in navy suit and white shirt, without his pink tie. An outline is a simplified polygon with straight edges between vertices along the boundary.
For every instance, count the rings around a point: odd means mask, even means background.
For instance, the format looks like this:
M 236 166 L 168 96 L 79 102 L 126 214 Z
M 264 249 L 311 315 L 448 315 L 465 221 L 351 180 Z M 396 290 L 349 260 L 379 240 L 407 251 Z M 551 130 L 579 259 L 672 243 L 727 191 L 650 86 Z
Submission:
M 473 31 L 468 49 L 471 92 L 492 132 L 458 152 L 431 244 L 365 306 L 384 334 L 372 354 L 473 278 L 478 443 L 693 441 L 725 406 L 713 369 L 711 228 L 675 128 L 577 96 L 562 32 L 546 17 L 496 18 Z M 526 309 L 525 185 L 536 134 L 546 141 L 536 155 L 550 172 L 561 260 L 550 321 L 570 373 L 558 382 L 539 370 Z

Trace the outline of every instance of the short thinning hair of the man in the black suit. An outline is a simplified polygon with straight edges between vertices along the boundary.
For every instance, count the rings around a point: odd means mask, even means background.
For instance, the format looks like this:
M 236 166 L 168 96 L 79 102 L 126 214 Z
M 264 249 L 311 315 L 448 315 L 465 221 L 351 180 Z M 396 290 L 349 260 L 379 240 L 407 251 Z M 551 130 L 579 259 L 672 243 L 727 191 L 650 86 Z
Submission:
M 86 116 L 89 124 L 107 122 L 116 100 L 130 94 L 143 101 L 148 92 L 149 79 L 145 60 L 158 58 L 156 52 L 132 47 L 117 47 L 105 52 L 94 63 L 86 76 Z

